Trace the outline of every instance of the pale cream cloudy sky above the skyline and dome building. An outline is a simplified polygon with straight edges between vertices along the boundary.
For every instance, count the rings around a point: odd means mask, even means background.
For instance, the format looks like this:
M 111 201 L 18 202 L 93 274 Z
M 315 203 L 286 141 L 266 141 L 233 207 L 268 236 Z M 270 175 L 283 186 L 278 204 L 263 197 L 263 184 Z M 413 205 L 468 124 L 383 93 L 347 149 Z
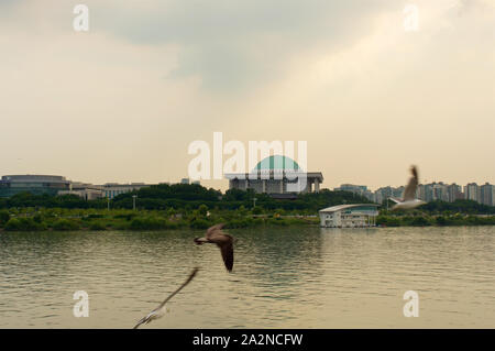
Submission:
M 0 47 L 1 175 L 178 182 L 222 132 L 328 188 L 495 183 L 495 0 L 0 0 Z

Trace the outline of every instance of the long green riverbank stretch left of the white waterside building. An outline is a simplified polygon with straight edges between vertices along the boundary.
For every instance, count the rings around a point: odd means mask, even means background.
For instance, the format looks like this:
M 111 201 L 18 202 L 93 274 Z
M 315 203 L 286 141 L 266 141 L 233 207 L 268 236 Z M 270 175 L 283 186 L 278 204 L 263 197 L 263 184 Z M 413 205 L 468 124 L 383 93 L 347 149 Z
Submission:
M 245 209 L 208 211 L 206 208 L 176 213 L 173 210 L 24 210 L 0 215 L 0 230 L 4 231 L 75 231 L 75 230 L 167 230 L 207 229 L 224 222 L 228 228 L 261 226 L 318 226 L 315 216 L 252 215 Z

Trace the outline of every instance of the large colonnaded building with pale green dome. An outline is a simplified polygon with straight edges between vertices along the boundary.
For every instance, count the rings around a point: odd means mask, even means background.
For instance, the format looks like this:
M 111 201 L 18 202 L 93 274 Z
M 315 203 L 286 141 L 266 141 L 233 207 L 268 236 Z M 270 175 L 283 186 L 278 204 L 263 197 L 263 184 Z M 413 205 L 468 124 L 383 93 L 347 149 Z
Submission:
M 323 182 L 321 172 L 305 172 L 293 158 L 282 155 L 260 161 L 251 173 L 230 173 L 226 174 L 226 178 L 229 179 L 229 189 L 253 189 L 275 197 L 282 194 L 318 193 Z

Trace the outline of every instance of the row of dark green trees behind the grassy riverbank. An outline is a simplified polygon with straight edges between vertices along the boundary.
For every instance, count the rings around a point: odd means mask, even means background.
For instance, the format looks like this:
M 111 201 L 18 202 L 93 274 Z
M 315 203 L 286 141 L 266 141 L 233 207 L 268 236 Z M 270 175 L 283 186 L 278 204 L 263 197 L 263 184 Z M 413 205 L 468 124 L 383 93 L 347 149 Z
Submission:
M 263 212 L 283 209 L 300 213 L 315 215 L 318 210 L 341 204 L 367 204 L 366 198 L 348 193 L 322 189 L 319 193 L 299 194 L 295 199 L 275 199 L 266 194 L 255 194 L 253 190 L 231 189 L 222 194 L 212 188 L 197 184 L 161 184 L 142 188 L 136 191 L 121 194 L 110 201 L 114 209 L 132 209 L 133 196 L 136 195 L 136 207 L 146 210 L 197 209 L 206 205 L 210 209 L 233 210 L 242 207 L 253 208 Z M 51 196 L 22 193 L 10 198 L 0 198 L 0 209 L 9 208 L 67 208 L 86 209 L 107 208 L 107 199 L 85 200 L 75 195 Z M 386 208 L 384 204 L 383 209 Z M 472 200 L 457 200 L 454 202 L 432 201 L 421 206 L 418 210 L 428 213 L 470 213 L 495 215 L 495 207 L 482 205 Z

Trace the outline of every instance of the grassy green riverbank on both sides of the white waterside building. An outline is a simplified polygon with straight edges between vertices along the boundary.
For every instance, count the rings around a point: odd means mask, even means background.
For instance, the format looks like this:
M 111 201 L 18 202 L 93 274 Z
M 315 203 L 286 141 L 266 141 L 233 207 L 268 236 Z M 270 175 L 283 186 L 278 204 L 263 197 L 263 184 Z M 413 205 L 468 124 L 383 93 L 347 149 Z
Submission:
M 161 210 L 97 210 L 97 209 L 14 209 L 0 212 L 0 231 L 77 231 L 77 230 L 168 230 L 207 229 L 224 222 L 227 228 L 319 226 L 317 216 L 285 213 L 254 215 L 238 210 L 197 210 L 176 212 Z M 378 227 L 444 227 L 495 226 L 495 216 L 480 215 L 381 215 Z

